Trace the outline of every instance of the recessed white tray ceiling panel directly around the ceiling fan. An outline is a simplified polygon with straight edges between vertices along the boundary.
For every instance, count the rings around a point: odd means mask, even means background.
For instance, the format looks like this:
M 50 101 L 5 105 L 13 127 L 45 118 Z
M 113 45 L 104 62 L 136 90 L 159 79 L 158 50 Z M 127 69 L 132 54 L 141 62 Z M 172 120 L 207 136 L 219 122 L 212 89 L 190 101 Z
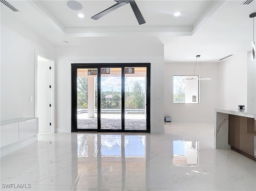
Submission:
M 48 10 L 64 28 L 138 26 L 130 4 L 114 10 L 99 20 L 92 20 L 92 16 L 116 2 L 114 0 L 80 0 L 79 2 L 83 6 L 82 10 L 74 11 L 66 6 L 66 1 L 35 1 L 40 8 L 44 7 Z M 146 20 L 143 26 L 192 26 L 212 1 L 137 0 L 136 3 Z M 176 11 L 183 13 L 178 19 L 173 16 Z M 78 13 L 83 13 L 85 18 L 79 19 Z

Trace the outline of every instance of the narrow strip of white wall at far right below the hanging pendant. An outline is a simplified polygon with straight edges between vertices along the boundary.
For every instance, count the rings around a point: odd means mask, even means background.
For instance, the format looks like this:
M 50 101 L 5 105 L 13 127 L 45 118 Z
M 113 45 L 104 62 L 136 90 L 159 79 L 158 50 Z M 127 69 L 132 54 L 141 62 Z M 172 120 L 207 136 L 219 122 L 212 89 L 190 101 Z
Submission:
M 247 53 L 247 109 L 256 110 L 256 59 Z

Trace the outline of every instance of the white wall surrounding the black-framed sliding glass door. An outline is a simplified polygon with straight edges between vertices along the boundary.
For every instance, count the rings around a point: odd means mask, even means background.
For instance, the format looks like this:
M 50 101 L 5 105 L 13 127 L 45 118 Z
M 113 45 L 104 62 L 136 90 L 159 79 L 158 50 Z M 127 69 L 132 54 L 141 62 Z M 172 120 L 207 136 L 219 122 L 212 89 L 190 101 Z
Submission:
M 91 37 L 56 51 L 57 132 L 71 131 L 71 63 L 151 63 L 151 132 L 164 132 L 164 45 L 153 37 Z

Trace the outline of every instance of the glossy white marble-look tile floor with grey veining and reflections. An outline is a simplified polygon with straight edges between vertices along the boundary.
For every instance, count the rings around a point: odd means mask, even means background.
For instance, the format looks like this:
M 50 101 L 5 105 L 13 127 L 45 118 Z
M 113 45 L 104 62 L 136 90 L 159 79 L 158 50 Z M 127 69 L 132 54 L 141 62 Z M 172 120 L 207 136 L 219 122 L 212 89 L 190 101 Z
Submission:
M 172 122 L 165 134 L 55 133 L 1 158 L 1 190 L 256 190 L 256 162 L 214 149 L 214 125 Z

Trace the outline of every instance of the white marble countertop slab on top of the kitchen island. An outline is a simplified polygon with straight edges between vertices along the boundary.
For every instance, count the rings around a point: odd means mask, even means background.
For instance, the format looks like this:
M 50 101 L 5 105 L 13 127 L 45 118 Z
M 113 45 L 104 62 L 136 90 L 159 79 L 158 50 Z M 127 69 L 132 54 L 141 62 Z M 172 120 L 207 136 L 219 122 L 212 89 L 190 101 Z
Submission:
M 249 117 L 256 119 L 256 110 L 247 110 L 247 109 L 215 109 L 215 112 L 232 114 L 242 117 Z

